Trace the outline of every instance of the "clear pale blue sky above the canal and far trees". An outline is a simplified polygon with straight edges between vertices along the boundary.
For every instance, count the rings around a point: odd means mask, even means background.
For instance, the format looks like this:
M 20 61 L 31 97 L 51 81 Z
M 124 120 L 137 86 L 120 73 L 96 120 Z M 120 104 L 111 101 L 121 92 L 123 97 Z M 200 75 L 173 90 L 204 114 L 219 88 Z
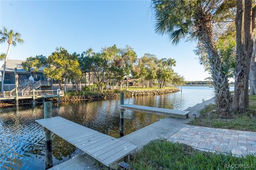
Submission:
M 149 1 L 1 1 L 1 29 L 21 33 L 25 43 L 11 48 L 10 59 L 50 55 L 56 47 L 81 53 L 92 47 L 129 45 L 138 57 L 151 53 L 174 58 L 174 70 L 186 80 L 204 80 L 209 74 L 198 63 L 196 43 L 174 46 L 166 35 L 157 35 Z M 0 45 L 6 53 L 7 44 Z M 2 63 L 1 63 L 2 64 Z

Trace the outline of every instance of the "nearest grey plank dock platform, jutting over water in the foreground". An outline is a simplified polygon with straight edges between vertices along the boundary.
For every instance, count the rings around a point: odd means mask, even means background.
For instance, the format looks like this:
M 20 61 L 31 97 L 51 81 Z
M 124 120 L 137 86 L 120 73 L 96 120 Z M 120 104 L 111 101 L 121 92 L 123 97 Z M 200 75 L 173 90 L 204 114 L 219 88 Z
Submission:
M 114 164 L 137 148 L 131 143 L 94 131 L 59 116 L 36 120 L 36 122 L 106 166 Z

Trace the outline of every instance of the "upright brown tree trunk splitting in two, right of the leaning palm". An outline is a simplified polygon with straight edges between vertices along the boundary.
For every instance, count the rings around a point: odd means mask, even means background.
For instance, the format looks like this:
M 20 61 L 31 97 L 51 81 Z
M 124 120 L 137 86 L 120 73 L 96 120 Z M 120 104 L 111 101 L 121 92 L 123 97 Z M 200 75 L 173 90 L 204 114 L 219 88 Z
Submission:
M 245 112 L 249 107 L 249 72 L 253 52 L 251 12 L 252 1 L 244 2 L 244 14 L 243 1 L 237 1 L 235 21 L 237 65 L 235 72 L 235 95 L 231 108 L 233 112 Z

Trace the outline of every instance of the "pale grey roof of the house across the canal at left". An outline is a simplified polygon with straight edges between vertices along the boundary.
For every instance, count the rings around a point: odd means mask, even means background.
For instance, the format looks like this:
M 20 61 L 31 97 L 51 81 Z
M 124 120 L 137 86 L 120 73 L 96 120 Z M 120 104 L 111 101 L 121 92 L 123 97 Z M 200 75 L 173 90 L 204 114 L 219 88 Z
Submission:
M 21 62 L 24 62 L 24 60 L 7 60 L 5 71 L 14 72 L 14 68 L 17 67 L 18 73 L 30 73 L 22 68 Z M 4 70 L 4 65 L 1 67 L 0 71 L 3 72 L 3 70 Z M 39 72 L 43 72 L 43 68 L 40 68 Z

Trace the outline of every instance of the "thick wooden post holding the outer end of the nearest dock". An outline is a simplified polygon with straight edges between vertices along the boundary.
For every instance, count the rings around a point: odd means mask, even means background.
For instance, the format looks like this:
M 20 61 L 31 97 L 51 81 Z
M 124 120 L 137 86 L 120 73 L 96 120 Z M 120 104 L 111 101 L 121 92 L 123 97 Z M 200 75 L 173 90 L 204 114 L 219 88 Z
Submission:
M 44 102 L 44 118 L 52 117 L 52 102 Z M 44 128 L 45 136 L 45 169 L 53 166 L 52 162 L 52 132 Z

